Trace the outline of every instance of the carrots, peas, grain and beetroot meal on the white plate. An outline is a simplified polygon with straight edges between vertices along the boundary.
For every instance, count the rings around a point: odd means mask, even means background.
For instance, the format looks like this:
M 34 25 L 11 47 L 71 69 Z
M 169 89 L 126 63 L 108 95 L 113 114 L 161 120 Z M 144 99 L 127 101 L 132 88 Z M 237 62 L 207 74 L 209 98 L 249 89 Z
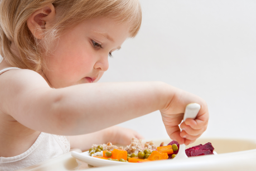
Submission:
M 176 157 L 179 148 L 180 144 L 177 141 L 171 141 L 168 145 L 161 143 L 160 146 L 156 146 L 153 141 L 148 141 L 143 146 L 142 140 L 132 138 L 131 144 L 126 147 L 115 146 L 110 142 L 101 145 L 93 144 L 89 150 L 89 155 L 117 162 L 144 163 L 154 160 L 173 159 Z M 186 149 L 186 154 L 188 157 L 209 155 L 214 154 L 213 150 L 214 147 L 211 143 L 206 143 Z

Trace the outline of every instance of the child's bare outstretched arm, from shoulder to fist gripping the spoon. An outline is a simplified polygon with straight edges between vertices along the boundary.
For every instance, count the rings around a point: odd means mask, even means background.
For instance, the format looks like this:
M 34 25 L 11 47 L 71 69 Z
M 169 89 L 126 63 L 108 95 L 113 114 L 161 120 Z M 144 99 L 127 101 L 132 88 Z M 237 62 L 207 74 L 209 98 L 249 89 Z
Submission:
M 198 138 L 207 126 L 204 100 L 163 82 L 93 83 L 51 89 L 31 70 L 7 71 L 0 79 L 4 82 L 0 85 L 4 90 L 3 112 L 28 128 L 46 133 L 88 134 L 160 110 L 167 133 L 184 143 L 178 124 L 190 102 L 200 104 L 201 110 L 187 123 L 192 125 L 187 128 L 189 138 Z

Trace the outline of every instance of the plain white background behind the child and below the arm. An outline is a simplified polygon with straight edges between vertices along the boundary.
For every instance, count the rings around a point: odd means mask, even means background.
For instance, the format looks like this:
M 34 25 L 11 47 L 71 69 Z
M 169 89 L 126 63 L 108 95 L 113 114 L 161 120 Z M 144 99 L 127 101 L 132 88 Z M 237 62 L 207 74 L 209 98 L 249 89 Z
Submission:
M 100 82 L 164 81 L 204 98 L 205 137 L 255 138 L 256 1 L 141 1 L 136 38 L 109 58 Z M 119 124 L 167 138 L 159 111 Z

